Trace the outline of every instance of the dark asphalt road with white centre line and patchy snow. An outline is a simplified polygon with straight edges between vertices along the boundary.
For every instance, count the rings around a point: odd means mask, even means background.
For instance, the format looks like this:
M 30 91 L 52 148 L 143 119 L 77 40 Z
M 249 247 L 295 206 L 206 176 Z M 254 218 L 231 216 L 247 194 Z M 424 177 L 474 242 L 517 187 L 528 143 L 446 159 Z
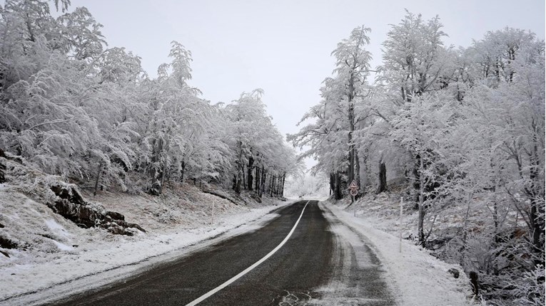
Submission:
M 317 201 L 306 203 L 280 209 L 256 231 L 56 305 L 187 305 L 264 258 L 291 230 L 271 257 L 198 305 L 393 305 L 365 238 Z

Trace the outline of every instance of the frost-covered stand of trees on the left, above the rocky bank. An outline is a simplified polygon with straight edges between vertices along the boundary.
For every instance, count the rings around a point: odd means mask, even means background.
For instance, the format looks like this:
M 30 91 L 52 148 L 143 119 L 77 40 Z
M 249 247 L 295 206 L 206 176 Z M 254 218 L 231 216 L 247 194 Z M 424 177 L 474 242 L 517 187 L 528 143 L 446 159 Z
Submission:
M 159 195 L 169 181 L 193 180 L 282 195 L 300 166 L 263 90 L 211 104 L 188 85 L 191 51 L 177 41 L 150 78 L 141 58 L 108 48 L 85 7 L 69 5 L 0 7 L 0 149 L 95 194 Z

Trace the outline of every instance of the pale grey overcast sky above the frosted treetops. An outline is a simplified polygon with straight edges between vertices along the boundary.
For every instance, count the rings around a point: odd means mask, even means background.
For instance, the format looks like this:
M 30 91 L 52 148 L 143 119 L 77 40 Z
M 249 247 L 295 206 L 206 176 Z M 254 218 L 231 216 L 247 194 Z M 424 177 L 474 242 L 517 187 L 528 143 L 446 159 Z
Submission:
M 72 0 L 86 6 L 109 46 L 126 47 L 142 58 L 155 77 L 168 62 L 176 40 L 193 53 L 191 85 L 211 102 L 231 102 L 243 91 L 262 88 L 264 102 L 280 132 L 296 123 L 319 100 L 320 83 L 331 75 L 331 51 L 362 24 L 371 28 L 372 66 L 380 64 L 389 24 L 404 9 L 436 15 L 447 45 L 470 46 L 485 32 L 505 26 L 545 37 L 544 0 L 383 0 L 383 1 L 213 1 Z

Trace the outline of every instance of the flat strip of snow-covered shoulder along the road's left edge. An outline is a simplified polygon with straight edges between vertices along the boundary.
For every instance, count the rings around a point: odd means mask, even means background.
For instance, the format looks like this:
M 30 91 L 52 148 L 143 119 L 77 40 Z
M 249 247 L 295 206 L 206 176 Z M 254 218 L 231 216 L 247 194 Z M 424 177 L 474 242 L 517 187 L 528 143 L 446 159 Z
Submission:
M 16 274 L 2 271 L 10 282 L 2 282 L 0 305 L 41 305 L 101 287 L 108 283 L 130 278 L 166 261 L 175 260 L 225 239 L 248 233 L 264 226 L 275 218 L 278 209 L 294 201 L 252 209 L 237 218 L 226 216 L 218 219 L 223 226 L 209 231 L 183 229 L 168 234 L 142 236 L 138 241 L 111 241 L 110 248 L 90 250 L 70 258 L 58 258 L 51 262 L 28 268 L 18 268 Z M 5 290 L 4 290 L 5 289 Z

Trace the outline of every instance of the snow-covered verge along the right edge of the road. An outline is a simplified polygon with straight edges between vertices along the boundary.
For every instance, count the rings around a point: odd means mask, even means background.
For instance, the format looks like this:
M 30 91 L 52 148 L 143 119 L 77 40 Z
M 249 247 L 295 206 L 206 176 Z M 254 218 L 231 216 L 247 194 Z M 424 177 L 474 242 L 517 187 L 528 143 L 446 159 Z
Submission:
M 375 253 L 388 269 L 388 275 L 395 282 L 398 292 L 393 294 L 404 306 L 458 306 L 470 305 L 469 282 L 462 268 L 450 265 L 430 255 L 425 249 L 402 241 L 399 252 L 399 238 L 377 228 L 383 225 L 372 218 L 353 216 L 353 211 L 343 211 L 338 206 L 327 204 L 328 209 L 343 223 L 362 234 L 370 241 Z M 448 270 L 461 271 L 460 278 L 453 278 Z

